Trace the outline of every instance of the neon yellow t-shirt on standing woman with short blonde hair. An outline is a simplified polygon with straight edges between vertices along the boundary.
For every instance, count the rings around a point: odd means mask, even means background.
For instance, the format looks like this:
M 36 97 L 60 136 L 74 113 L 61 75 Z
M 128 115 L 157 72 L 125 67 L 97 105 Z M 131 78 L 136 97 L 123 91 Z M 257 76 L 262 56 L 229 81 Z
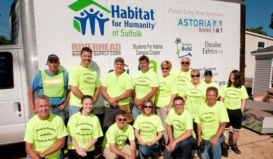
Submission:
M 176 78 L 172 75 L 169 75 L 166 78 L 160 76 L 158 80 L 159 87 L 156 92 L 156 107 L 163 108 L 170 104 L 172 95 L 176 95 L 178 93 L 178 87 Z

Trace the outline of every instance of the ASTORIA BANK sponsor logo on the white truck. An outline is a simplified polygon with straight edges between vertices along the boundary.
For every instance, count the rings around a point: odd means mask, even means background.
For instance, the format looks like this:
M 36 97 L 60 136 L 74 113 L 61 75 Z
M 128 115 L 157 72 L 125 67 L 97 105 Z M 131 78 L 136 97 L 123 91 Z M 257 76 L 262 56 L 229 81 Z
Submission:
M 223 21 L 220 20 L 196 20 L 196 19 L 179 19 L 178 26 L 190 27 L 195 32 L 222 33 Z

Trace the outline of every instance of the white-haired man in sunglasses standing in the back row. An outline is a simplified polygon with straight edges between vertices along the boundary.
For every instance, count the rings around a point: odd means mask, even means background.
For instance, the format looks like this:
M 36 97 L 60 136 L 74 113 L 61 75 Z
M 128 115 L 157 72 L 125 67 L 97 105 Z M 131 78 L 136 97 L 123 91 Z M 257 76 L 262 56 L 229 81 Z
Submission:
M 185 88 L 188 83 L 191 82 L 191 70 L 189 70 L 191 59 L 183 57 L 181 59 L 181 68 L 172 72 L 172 75 L 176 78 L 178 84 L 178 96 L 185 96 Z

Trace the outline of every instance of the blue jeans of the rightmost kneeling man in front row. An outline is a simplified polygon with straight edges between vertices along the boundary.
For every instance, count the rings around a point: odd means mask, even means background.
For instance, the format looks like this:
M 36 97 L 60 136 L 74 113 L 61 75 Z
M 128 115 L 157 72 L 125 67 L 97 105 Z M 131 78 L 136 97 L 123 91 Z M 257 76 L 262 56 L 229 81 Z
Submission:
M 215 146 L 212 146 L 210 140 L 205 141 L 204 152 L 201 152 L 201 159 L 221 159 L 221 143 L 225 142 L 225 136 L 222 134 Z

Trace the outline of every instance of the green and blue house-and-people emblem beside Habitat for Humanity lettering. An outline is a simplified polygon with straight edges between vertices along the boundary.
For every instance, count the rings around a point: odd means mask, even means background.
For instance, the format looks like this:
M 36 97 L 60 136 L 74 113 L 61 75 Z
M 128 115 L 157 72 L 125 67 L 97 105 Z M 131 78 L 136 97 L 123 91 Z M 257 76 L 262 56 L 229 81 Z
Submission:
M 98 4 L 94 0 L 77 0 L 74 3 L 70 4 L 68 7 L 73 11 L 78 12 L 92 4 L 96 5 L 98 8 L 102 9 L 107 13 L 111 13 L 110 10 Z M 74 28 L 78 30 L 78 32 L 81 33 L 82 35 L 85 35 L 87 20 L 89 20 L 92 35 L 95 35 L 95 24 L 97 21 L 100 35 L 102 36 L 104 35 L 104 24 L 106 21 L 109 20 L 109 18 L 103 18 L 104 15 L 102 13 L 99 13 L 99 11 L 95 13 L 94 12 L 95 12 L 94 9 L 90 8 L 89 11 L 83 10 L 82 12 L 79 13 L 78 17 L 77 16 L 74 17 L 73 20 Z

